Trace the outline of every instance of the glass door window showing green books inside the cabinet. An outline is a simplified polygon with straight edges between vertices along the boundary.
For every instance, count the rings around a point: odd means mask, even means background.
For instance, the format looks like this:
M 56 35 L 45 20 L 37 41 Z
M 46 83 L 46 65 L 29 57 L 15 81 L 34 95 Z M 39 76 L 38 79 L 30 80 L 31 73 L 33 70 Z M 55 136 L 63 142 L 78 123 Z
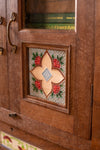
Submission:
M 75 29 L 75 0 L 25 0 L 25 28 Z

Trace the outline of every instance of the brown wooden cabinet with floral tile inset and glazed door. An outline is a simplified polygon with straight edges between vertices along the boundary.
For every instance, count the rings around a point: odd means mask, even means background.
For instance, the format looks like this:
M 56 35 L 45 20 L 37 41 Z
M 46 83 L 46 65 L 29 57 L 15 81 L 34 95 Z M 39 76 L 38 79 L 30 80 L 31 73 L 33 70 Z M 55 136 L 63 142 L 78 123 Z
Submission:
M 94 0 L 0 0 L 1 131 L 41 149 L 90 150 L 94 9 Z

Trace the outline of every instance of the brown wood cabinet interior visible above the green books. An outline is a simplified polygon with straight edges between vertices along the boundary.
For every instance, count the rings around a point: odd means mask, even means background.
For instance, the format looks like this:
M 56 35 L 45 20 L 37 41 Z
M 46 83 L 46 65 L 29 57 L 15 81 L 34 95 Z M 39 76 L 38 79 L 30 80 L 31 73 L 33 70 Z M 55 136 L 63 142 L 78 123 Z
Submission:
M 27 13 L 63 13 L 75 11 L 75 0 L 29 0 L 26 2 Z

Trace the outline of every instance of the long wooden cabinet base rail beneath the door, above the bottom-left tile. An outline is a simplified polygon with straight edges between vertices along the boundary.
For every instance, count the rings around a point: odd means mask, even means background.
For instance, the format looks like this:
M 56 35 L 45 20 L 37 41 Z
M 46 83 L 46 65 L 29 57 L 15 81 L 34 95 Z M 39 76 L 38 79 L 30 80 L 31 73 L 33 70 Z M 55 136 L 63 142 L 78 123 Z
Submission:
M 24 133 L 26 133 L 27 131 L 27 133 L 31 135 L 35 135 L 37 137 L 42 138 L 43 140 L 48 140 L 68 149 L 90 150 L 91 141 L 89 140 L 79 138 L 77 136 L 74 136 L 73 134 L 69 134 L 67 132 L 63 132 L 56 128 L 50 127 L 46 124 L 39 123 L 38 121 L 32 120 L 21 114 L 18 114 L 18 117 L 15 119 L 9 118 L 9 113 L 12 113 L 12 111 L 0 108 L 0 120 L 1 123 L 4 124 L 4 126 L 0 126 L 0 129 L 4 131 L 8 130 L 9 134 L 11 133 L 11 128 L 4 128 L 5 126 L 7 127 L 6 124 L 10 125 L 10 127 L 17 127 L 17 129 L 21 130 Z M 18 130 L 16 130 L 16 132 L 13 135 L 18 135 L 19 132 L 17 133 L 17 131 Z

